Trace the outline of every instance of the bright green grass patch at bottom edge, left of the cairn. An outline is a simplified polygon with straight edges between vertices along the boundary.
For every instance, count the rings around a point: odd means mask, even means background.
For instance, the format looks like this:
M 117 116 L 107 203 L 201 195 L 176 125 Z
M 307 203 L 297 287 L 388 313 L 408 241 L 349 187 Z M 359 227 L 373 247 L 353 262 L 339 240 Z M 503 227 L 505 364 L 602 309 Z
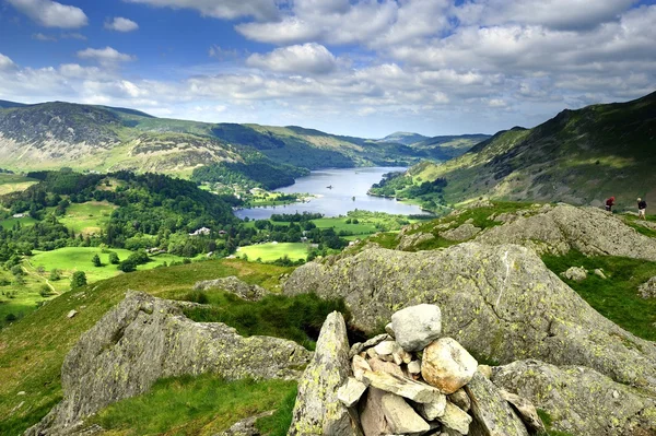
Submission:
M 212 375 L 168 378 L 148 393 L 109 405 L 89 423 L 109 435 L 214 435 L 237 421 L 280 408 L 284 416 L 261 424 L 273 432 L 288 413 L 291 419 L 288 402 L 295 392 L 294 381 L 225 381 Z

